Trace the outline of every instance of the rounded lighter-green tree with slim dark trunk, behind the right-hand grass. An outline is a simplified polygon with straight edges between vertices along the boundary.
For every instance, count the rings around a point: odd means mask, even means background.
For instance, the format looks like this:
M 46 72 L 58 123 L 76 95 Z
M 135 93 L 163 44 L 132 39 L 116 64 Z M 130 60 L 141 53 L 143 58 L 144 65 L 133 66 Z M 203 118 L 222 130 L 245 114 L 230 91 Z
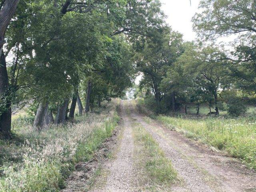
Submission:
M 194 93 L 203 94 L 209 106 L 214 101 L 216 114 L 219 114 L 218 91 L 229 86 L 229 62 L 223 58 L 226 55 L 214 46 L 200 48 L 191 44 L 176 62 L 184 68 L 183 75 L 190 85 L 196 87 Z

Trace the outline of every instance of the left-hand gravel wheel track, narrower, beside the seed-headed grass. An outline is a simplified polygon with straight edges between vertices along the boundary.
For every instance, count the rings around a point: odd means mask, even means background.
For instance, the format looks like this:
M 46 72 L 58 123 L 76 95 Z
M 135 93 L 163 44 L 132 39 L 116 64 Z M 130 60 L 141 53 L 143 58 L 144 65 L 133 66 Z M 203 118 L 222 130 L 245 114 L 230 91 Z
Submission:
M 121 104 L 121 118 L 123 119 L 123 135 L 119 143 L 116 159 L 106 162 L 103 167 L 109 172 L 106 184 L 94 189 L 93 192 L 132 192 L 136 191 L 136 171 L 133 167 L 134 142 L 132 138 L 132 119 L 129 118 L 128 108 L 131 104 Z

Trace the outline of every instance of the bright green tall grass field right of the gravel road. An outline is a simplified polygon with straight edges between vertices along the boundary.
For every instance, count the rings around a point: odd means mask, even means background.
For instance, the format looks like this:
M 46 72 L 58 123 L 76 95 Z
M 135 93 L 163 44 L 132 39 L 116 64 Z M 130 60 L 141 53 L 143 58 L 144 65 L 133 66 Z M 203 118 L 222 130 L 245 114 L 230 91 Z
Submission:
M 157 116 L 169 128 L 188 138 L 225 150 L 256 170 L 256 120 L 254 118 L 188 118 Z

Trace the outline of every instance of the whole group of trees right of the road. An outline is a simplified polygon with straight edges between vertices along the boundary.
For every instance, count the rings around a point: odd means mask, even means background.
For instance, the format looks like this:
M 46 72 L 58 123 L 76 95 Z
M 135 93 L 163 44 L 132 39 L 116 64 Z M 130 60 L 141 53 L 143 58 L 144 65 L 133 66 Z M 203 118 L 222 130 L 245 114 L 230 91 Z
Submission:
M 192 18 L 198 39 L 186 42 L 162 28 L 158 38 L 141 40 L 136 57 L 143 76 L 135 95 L 158 113 L 187 112 L 188 104 L 197 106 L 197 114 L 202 104 L 209 114 L 246 112 L 245 100 L 255 104 L 255 7 L 254 0 L 201 0 L 202 12 Z M 229 36 L 234 40 L 228 47 L 217 41 Z

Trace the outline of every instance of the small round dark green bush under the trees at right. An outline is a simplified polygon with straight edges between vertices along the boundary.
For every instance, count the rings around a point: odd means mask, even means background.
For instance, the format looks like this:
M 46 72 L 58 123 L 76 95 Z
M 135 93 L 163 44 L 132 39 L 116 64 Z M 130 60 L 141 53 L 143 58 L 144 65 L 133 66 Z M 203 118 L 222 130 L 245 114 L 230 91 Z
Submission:
M 248 108 L 244 105 L 244 102 L 240 98 L 232 97 L 227 103 L 228 114 L 230 116 L 238 117 L 248 111 Z

